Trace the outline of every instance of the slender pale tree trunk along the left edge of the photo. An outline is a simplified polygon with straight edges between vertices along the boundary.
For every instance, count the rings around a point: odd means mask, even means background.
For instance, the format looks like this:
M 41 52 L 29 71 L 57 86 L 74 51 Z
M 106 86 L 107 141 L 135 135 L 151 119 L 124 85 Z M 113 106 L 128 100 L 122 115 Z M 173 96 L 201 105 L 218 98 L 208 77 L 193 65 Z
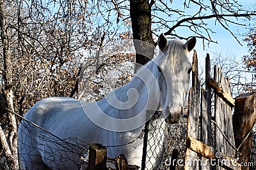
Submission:
M 3 80 L 4 80 L 4 96 L 6 97 L 7 107 L 14 111 L 13 107 L 13 91 L 12 91 L 12 57 L 10 54 L 10 45 L 8 39 L 8 31 L 7 31 L 7 24 L 6 24 L 6 16 L 5 16 L 6 7 L 4 5 L 4 0 L 0 0 L 0 31 L 1 31 L 1 41 L 3 45 Z M 6 136 L 1 136 L 1 143 L 4 146 L 4 152 L 6 157 L 11 162 L 12 169 L 17 169 L 19 167 L 18 160 L 17 160 L 17 124 L 15 116 L 8 112 L 8 119 L 9 119 L 9 133 Z M 1 128 L 0 131 L 3 132 Z M 8 141 L 6 141 L 6 139 Z M 9 146 L 9 148 L 6 148 Z M 12 154 L 10 154 L 10 151 Z

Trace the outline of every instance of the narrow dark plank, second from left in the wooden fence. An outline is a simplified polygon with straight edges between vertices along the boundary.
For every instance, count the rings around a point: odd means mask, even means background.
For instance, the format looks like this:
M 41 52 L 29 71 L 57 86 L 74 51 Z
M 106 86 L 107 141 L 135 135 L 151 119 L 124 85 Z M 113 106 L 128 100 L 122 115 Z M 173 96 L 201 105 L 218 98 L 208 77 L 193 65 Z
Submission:
M 209 81 L 211 79 L 211 60 L 210 56 L 207 53 L 205 57 L 205 81 Z M 200 141 L 205 143 L 206 145 L 211 146 L 211 87 L 205 85 L 205 89 L 201 90 L 201 116 L 200 116 Z M 201 169 L 207 170 L 211 168 L 210 162 L 207 162 L 205 157 L 202 157 L 202 162 L 206 162 Z

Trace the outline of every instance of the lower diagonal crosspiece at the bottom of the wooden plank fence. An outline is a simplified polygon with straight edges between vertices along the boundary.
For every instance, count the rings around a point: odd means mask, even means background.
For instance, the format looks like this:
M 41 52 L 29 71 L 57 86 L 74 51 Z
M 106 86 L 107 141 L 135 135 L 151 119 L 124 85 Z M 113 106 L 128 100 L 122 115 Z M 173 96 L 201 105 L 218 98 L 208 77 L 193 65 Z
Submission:
M 207 159 L 210 159 L 209 162 L 211 164 L 218 164 L 219 166 L 224 167 L 225 169 L 241 169 L 241 164 L 235 162 L 227 155 L 221 154 L 212 146 L 205 145 L 205 143 L 202 143 L 201 141 L 191 138 L 190 136 L 188 136 L 187 147 L 196 153 L 200 153 Z M 204 164 L 204 162 L 202 163 Z

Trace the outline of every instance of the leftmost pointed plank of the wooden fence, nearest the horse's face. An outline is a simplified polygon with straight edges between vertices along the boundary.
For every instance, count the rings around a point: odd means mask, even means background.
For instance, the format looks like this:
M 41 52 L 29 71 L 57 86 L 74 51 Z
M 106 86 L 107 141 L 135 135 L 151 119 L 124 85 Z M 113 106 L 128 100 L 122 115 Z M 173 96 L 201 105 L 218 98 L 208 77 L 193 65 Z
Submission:
M 188 108 L 188 136 L 199 139 L 199 117 L 200 117 L 200 80 L 198 79 L 198 59 L 194 51 L 192 62 L 192 87 L 189 90 Z M 185 161 L 198 159 L 197 153 L 187 149 Z M 189 166 L 185 164 L 185 169 L 198 169 L 198 165 Z

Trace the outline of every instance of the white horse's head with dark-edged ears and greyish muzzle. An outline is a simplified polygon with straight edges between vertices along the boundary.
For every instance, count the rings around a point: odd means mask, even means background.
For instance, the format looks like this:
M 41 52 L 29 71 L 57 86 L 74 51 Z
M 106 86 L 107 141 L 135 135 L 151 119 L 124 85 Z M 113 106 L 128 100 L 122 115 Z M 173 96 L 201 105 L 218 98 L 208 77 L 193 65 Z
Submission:
M 159 88 L 161 105 L 166 122 L 176 124 L 183 117 L 184 102 L 189 87 L 192 70 L 189 52 L 193 50 L 196 38 L 185 44 L 181 41 L 168 41 L 164 34 L 158 39 L 159 56 Z

